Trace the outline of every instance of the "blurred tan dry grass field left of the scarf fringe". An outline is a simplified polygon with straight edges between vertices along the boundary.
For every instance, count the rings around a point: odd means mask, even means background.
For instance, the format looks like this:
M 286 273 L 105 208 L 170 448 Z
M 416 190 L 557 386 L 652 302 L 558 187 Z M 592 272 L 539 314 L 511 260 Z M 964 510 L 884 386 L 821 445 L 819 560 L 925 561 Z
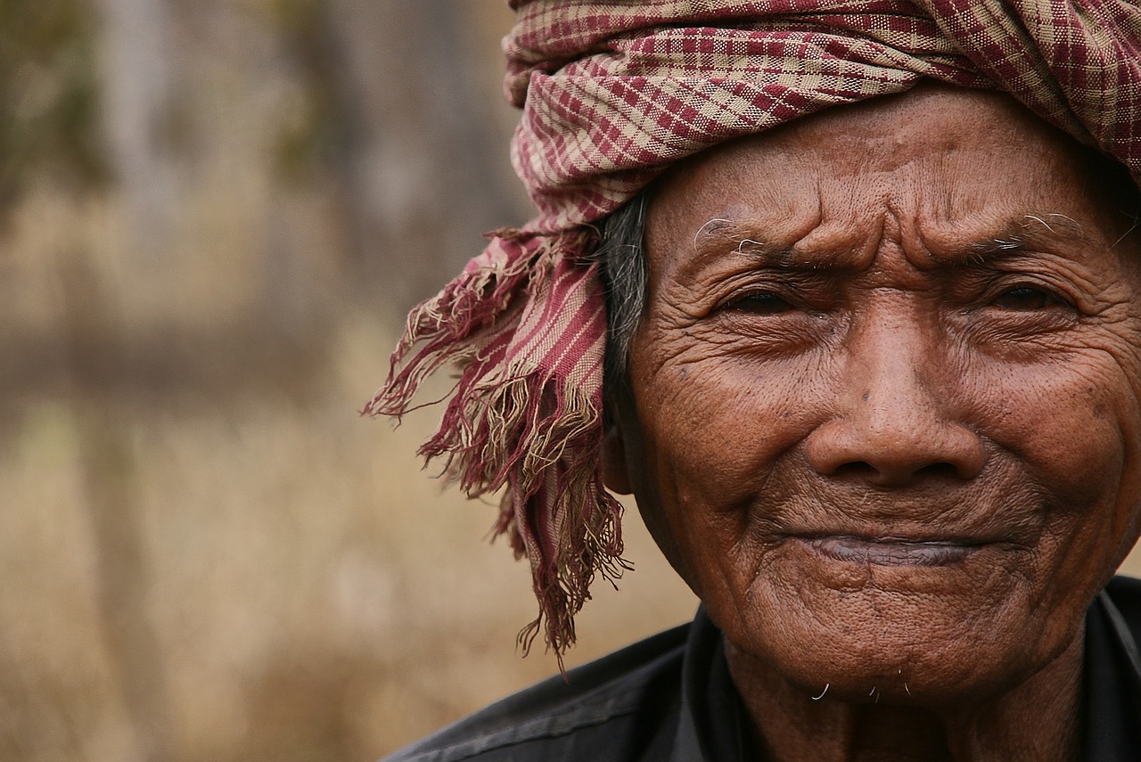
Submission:
M 0 759 L 369 760 L 556 668 L 513 652 L 534 603 L 526 565 L 484 542 L 494 510 L 420 471 L 432 414 L 394 430 L 356 412 L 393 326 L 334 308 L 319 349 L 256 347 L 232 265 L 136 303 L 113 208 L 22 214 L 6 338 L 55 356 L 21 357 L 34 387 L 5 373 Z M 96 292 L 106 311 L 68 314 Z M 235 343 L 195 339 L 210 319 Z M 132 357 L 163 324 L 169 356 Z M 98 364 L 76 332 L 122 365 L 76 367 Z M 573 662 L 694 608 L 630 535 L 638 570 L 599 590 Z

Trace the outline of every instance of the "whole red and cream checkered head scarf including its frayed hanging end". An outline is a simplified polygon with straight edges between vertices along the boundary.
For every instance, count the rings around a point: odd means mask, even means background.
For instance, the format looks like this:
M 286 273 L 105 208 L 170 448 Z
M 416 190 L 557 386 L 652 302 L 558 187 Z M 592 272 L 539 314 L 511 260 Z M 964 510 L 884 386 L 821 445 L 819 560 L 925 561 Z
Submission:
M 1118 0 L 513 0 L 511 156 L 539 214 L 408 316 L 370 414 L 460 368 L 423 445 L 531 561 L 561 656 L 596 572 L 621 573 L 599 477 L 606 317 L 594 222 L 672 162 L 922 78 L 1010 92 L 1141 179 L 1141 10 Z

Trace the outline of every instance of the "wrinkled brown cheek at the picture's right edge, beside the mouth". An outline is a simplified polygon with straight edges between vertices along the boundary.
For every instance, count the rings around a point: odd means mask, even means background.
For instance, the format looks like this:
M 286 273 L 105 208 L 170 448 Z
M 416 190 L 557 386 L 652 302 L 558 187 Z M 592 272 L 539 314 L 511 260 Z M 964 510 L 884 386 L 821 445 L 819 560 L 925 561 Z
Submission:
M 1124 362 L 1122 362 L 1124 359 Z M 1075 616 L 1136 540 L 1141 406 L 1132 354 L 977 366 L 974 424 L 1041 501 L 1031 572 L 1046 608 Z M 1050 601 L 1050 602 L 1046 602 Z M 1060 617 L 1065 618 L 1065 617 Z

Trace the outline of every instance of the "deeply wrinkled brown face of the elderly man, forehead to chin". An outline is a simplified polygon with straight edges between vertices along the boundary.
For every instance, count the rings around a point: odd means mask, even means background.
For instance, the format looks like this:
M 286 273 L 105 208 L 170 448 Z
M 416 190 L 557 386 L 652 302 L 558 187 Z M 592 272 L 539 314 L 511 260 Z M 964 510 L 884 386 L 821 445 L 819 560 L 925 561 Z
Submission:
M 1079 156 L 924 88 L 661 184 L 605 472 L 731 649 L 938 702 L 1081 633 L 1138 535 L 1141 276 Z

